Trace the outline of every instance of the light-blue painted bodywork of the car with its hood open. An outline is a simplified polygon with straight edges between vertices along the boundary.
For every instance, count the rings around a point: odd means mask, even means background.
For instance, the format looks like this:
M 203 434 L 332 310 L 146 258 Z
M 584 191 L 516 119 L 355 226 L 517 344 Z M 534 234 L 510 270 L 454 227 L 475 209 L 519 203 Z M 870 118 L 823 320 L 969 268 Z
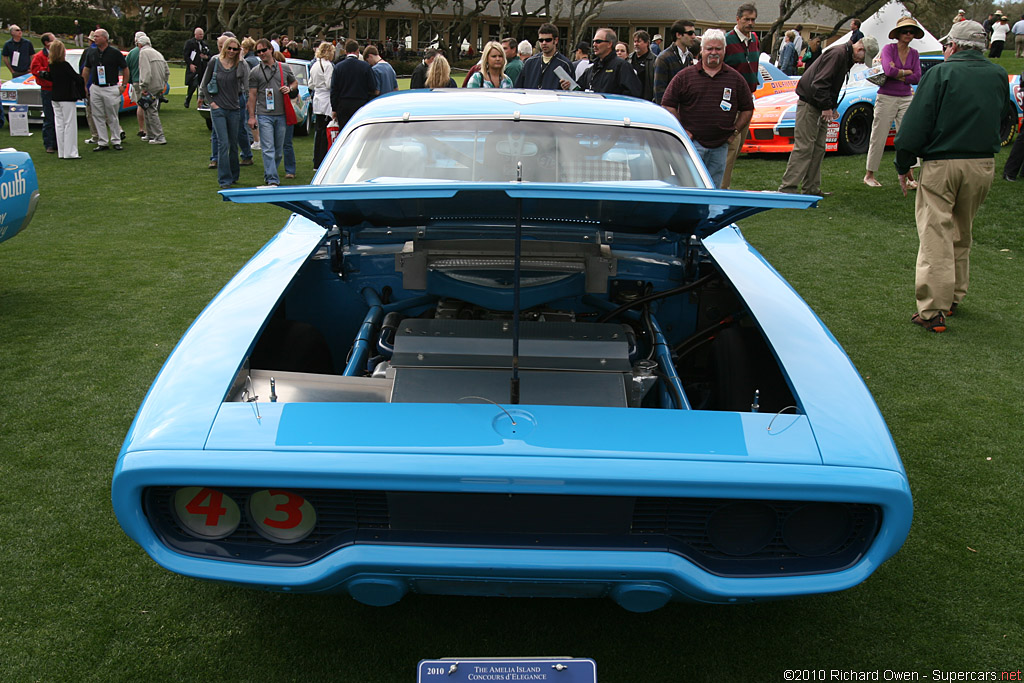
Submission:
M 418 116 L 440 114 L 452 111 L 454 101 L 480 116 L 507 114 L 514 103 L 523 108 L 522 116 L 528 109 L 530 116 L 555 117 L 566 96 L 390 95 L 360 110 L 350 125 L 400 117 L 414 105 Z M 618 121 L 625 115 L 664 121 L 658 108 L 628 98 L 577 95 L 572 101 L 577 114 L 593 120 Z M 670 599 L 736 602 L 844 590 L 864 581 L 905 540 L 912 515 L 907 479 L 867 388 L 820 319 L 729 224 L 767 208 L 806 207 L 817 198 L 656 182 L 368 182 L 223 195 L 238 203 L 274 203 L 296 214 L 182 337 L 118 458 L 112 492 L 118 520 L 160 565 L 266 590 L 348 592 L 370 604 L 388 604 L 408 592 L 610 596 L 629 609 L 644 610 Z M 379 317 L 374 308 L 404 306 L 415 318 L 431 304 L 427 295 L 436 296 L 430 281 L 426 290 L 399 291 L 403 281 L 396 263 L 403 250 L 420 239 L 428 244 L 468 239 L 503 248 L 510 243 L 510 226 L 499 218 L 479 224 L 472 217 L 483 208 L 501 217 L 520 200 L 527 220 L 536 221 L 531 238 L 577 243 L 583 253 L 583 246 L 598 246 L 592 242 L 596 237 L 616 260 L 620 281 L 650 278 L 667 287 L 705 271 L 718 273 L 728 284 L 721 295 L 735 297 L 750 319 L 746 332 L 763 339 L 767 350 L 758 361 L 777 364 L 779 382 L 796 405 L 761 413 L 682 401 L 685 410 L 667 410 L 666 400 L 672 401 L 664 387 L 660 408 L 390 398 L 269 402 L 264 389 L 254 389 L 264 394 L 256 401 L 238 398 L 247 358 L 283 303 L 289 314 L 319 323 L 329 339 L 351 340 L 358 331 L 358 339 L 373 342 L 376 336 L 364 335 L 364 329 L 377 325 L 368 324 Z M 580 213 L 579 207 L 589 205 L 600 210 Z M 631 211 L 649 216 L 658 207 L 666 211 L 657 214 L 664 222 L 647 229 L 631 222 Z M 702 259 L 699 266 L 687 264 L 694 255 Z M 694 272 L 685 274 L 688 269 Z M 611 281 L 611 274 L 605 276 Z M 476 287 L 490 310 L 507 310 L 496 303 L 500 293 L 487 296 L 485 287 L 459 284 L 463 289 L 455 291 Z M 378 298 L 385 290 L 391 303 Z M 595 310 L 588 299 L 597 302 L 597 311 L 616 305 L 610 297 L 573 294 L 571 288 L 539 301 L 552 299 L 558 299 L 557 309 Z M 685 296 L 658 302 L 652 330 L 662 343 L 685 346 L 698 325 L 691 305 Z M 596 318 L 599 312 L 590 314 Z M 342 351 L 347 348 L 347 342 L 341 345 Z M 345 365 L 336 361 L 334 375 L 306 377 L 378 381 L 361 376 L 361 360 L 354 364 L 355 376 L 346 372 L 342 378 Z M 184 486 L 547 496 L 573 506 L 594 497 L 790 501 L 871 507 L 879 522 L 873 541 L 842 566 L 779 575 L 716 572 L 659 547 L 497 542 L 464 547 L 366 538 L 282 564 L 239 559 L 226 551 L 205 556 L 206 551 L 182 551 L 169 543 L 150 517 L 162 513 L 143 501 L 155 487 Z

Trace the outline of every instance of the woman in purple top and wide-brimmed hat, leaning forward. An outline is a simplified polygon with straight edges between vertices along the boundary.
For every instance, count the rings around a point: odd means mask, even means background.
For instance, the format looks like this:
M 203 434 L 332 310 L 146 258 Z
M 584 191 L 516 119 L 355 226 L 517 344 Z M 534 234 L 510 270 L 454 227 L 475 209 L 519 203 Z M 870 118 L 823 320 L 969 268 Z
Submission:
M 914 38 L 924 38 L 924 30 L 912 17 L 904 16 L 889 32 L 889 43 L 882 48 L 881 66 L 886 73 L 886 82 L 879 88 L 874 100 L 874 119 L 871 122 L 871 141 L 867 147 L 867 172 L 864 174 L 864 184 L 869 187 L 881 187 L 882 183 L 874 177 L 882 161 L 882 152 L 886 148 L 886 139 L 893 121 L 896 122 L 896 132 L 903 122 L 903 115 L 910 106 L 913 97 L 911 85 L 921 80 L 921 55 L 910 47 Z M 911 189 L 918 183 L 913 179 L 913 171 L 907 176 Z

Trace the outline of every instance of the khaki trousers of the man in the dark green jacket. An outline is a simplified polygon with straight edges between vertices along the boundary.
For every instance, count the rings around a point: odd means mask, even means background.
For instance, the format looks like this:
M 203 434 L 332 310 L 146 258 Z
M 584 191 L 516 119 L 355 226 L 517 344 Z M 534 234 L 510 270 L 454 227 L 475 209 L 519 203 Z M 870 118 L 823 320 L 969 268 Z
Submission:
M 925 161 L 918 178 L 918 269 L 914 295 L 926 321 L 959 303 L 970 284 L 971 230 L 985 201 L 992 159 Z

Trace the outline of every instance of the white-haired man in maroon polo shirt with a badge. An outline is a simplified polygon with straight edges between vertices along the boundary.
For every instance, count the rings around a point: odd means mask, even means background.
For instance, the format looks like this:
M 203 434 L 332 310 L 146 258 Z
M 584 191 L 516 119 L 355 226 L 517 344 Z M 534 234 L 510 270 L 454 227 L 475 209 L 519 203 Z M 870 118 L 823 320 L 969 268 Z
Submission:
M 725 34 L 706 31 L 700 61 L 676 74 L 662 97 L 662 106 L 686 129 L 716 187 L 722 184 L 729 141 L 754 116 L 746 81 L 723 62 L 724 55 Z

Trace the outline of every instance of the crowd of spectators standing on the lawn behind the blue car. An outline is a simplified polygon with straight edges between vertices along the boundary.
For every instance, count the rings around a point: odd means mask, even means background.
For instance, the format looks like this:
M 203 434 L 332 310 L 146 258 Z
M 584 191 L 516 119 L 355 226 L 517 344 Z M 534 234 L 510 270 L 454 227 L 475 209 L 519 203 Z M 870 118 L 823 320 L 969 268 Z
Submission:
M 711 29 L 698 37 L 694 23 L 685 18 L 674 23 L 666 37 L 637 31 L 629 37 L 632 50 L 627 37 L 620 40 L 612 29 L 599 28 L 590 43 L 566 46 L 571 58 L 560 45 L 559 29 L 543 24 L 532 44 L 511 37 L 486 42 L 462 87 L 586 90 L 659 104 L 689 135 L 715 186 L 728 188 L 760 85 L 763 46 L 755 32 L 757 16 L 757 7 L 744 3 L 727 32 Z M 137 137 L 148 144 L 167 143 L 160 110 L 167 101 L 170 71 L 145 33 L 135 34 L 134 45 L 125 54 L 111 45 L 106 31 L 97 28 L 74 69 L 63 43 L 53 34 L 40 36 L 42 49 L 37 52 L 19 27 L 9 30 L 3 63 L 15 78 L 29 73 L 36 77 L 46 153 L 81 159 L 77 139 L 81 99 L 90 130 L 84 144 L 92 145 L 92 152 L 124 148 L 126 133 L 118 114 L 126 101 L 139 104 Z M 986 59 L 983 51 L 987 48 L 987 56 L 997 58 L 1012 41 L 1015 54 L 1024 54 L 1024 15 L 1011 26 L 1007 15 L 995 12 L 979 24 L 961 10 L 941 39 L 945 61 L 924 75 L 920 55 L 910 47 L 923 37 L 920 25 L 903 16 L 889 33 L 894 42 L 881 50 L 878 66 L 884 81 L 878 82 L 863 183 L 885 184 L 879 177 L 881 156 L 895 128 L 899 187 L 904 196 L 916 190 L 921 248 L 918 310 L 911 322 L 930 332 L 944 332 L 946 319 L 967 293 L 972 223 L 992 184 L 999 123 L 1016 111 L 1006 71 Z M 344 127 L 374 97 L 398 89 L 388 59 L 404 56 L 404 49 L 393 40 L 361 49 L 355 40 L 337 45 L 323 41 L 312 45 L 315 58 L 302 74 L 312 91 L 307 111 L 288 58 L 308 47 L 307 40 L 300 44 L 288 36 L 240 40 L 229 32 L 211 46 L 200 27 L 184 43 L 184 106 L 190 106 L 195 96 L 199 106 L 209 109 L 210 168 L 217 170 L 221 188 L 239 181 L 240 167 L 253 165 L 255 152 L 262 158 L 264 185 L 281 183 L 282 164 L 284 177 L 294 178 L 292 135 L 307 113 L 313 117 L 312 166 L 318 168 L 332 129 Z M 879 51 L 878 41 L 862 33 L 858 19 L 852 23 L 848 42 L 824 51 L 819 39 L 805 44 L 800 31 L 785 32 L 778 49 L 779 68 L 795 75 L 802 63 L 805 71 L 796 86 L 793 151 L 779 191 L 830 195 L 821 188 L 829 125 L 838 118 L 852 68 L 871 66 Z M 916 91 L 913 86 L 919 86 Z M 433 47 L 424 50 L 410 88 L 455 87 L 447 56 Z M 1024 135 L 1018 135 L 1004 167 L 1006 181 L 1016 181 L 1024 167 L 1022 140 Z

